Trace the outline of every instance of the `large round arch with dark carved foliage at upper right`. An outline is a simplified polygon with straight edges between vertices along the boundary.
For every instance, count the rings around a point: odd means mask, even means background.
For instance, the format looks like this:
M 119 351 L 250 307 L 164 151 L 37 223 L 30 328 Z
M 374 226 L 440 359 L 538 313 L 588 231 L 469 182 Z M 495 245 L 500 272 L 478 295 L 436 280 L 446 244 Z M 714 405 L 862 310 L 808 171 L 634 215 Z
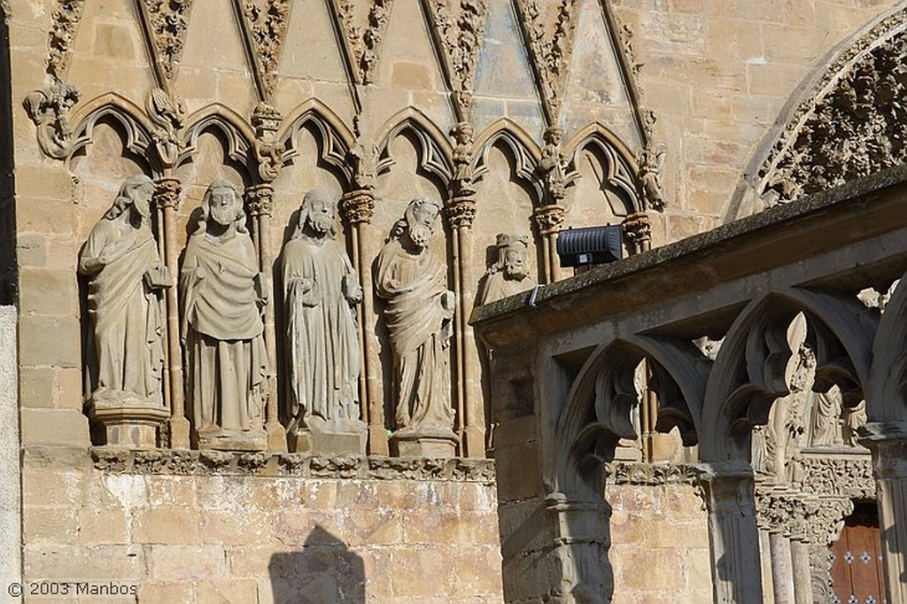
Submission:
M 814 63 L 753 152 L 724 210 L 726 222 L 904 161 L 907 146 L 899 142 L 907 134 L 907 109 L 900 105 L 903 84 L 893 78 L 885 84 L 893 86 L 890 94 L 877 96 L 875 84 L 883 77 L 874 79 L 891 72 L 887 65 L 907 60 L 905 30 L 907 13 L 899 3 Z M 901 134 L 886 137 L 891 148 L 885 142 L 863 144 L 875 138 L 861 127 L 873 122 L 864 110 L 883 120 L 882 132 Z M 847 140 L 853 144 L 844 144 Z M 814 170 L 818 166 L 822 170 Z

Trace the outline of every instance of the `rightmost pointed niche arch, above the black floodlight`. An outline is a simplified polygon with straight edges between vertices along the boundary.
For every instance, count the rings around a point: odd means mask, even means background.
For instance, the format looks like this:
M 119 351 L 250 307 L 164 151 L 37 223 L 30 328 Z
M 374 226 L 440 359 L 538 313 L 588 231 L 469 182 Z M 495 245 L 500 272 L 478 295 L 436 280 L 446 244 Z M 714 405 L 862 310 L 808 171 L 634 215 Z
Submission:
M 639 163 L 627 145 L 599 122 L 587 124 L 563 146 L 562 152 L 567 158 L 568 165 L 565 180 L 570 183 L 580 178 L 578 168 L 580 153 L 589 148 L 600 151 L 605 158 L 607 165 L 603 180 L 624 204 L 626 213 L 643 211 L 645 208 L 640 196 L 641 184 L 637 176 Z

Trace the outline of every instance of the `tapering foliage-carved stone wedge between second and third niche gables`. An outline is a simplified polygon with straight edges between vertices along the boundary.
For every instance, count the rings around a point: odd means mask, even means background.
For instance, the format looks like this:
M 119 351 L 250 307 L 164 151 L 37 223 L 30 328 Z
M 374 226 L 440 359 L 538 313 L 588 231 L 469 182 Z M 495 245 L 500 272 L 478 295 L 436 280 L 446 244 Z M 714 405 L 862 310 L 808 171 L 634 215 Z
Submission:
M 289 0 L 246 0 L 243 15 L 249 27 L 265 97 L 269 99 L 277 85 L 278 63 L 287 38 Z

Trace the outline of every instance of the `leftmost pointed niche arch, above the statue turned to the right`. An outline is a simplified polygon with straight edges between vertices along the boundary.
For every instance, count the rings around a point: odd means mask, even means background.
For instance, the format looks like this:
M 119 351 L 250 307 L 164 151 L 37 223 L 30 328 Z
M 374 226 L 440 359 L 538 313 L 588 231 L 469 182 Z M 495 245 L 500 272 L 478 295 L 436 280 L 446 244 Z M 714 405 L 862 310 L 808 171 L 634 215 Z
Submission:
M 123 138 L 123 149 L 132 153 L 133 159 L 145 163 L 150 176 L 161 175 L 161 159 L 154 150 L 151 124 L 144 118 L 144 112 L 132 101 L 117 93 L 102 94 L 80 105 L 73 114 L 73 147 L 67 162 L 83 153 L 93 142 L 93 130 L 99 122 L 111 121 L 116 124 Z

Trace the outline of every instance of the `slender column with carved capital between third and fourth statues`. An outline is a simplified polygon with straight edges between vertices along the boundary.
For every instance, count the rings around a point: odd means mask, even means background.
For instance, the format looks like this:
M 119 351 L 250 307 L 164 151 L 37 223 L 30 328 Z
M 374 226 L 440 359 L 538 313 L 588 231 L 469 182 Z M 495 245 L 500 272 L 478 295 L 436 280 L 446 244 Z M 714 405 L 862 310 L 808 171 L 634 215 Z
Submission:
M 372 216 L 375 213 L 375 196 L 370 189 L 358 189 L 345 193 L 340 202 L 340 211 L 350 226 L 350 259 L 362 284 L 362 304 L 356 307 L 359 319 L 359 338 L 362 350 L 362 374 L 359 378 L 359 400 L 362 416 L 368 425 L 368 454 L 387 455 L 387 429 L 385 428 L 384 397 L 381 393 L 378 351 L 375 338 L 368 335 L 373 325 L 369 319 L 375 317 L 372 284 L 372 270 L 363 249 L 363 241 L 372 236 Z

